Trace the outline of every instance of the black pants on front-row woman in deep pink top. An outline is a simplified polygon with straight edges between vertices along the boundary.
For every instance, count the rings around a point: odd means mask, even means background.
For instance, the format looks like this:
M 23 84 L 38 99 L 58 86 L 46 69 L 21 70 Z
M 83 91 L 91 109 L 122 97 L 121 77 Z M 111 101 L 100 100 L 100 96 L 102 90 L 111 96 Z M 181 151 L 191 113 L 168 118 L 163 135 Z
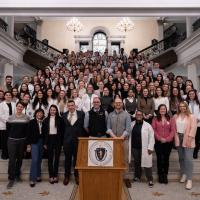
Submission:
M 157 156 L 158 175 L 167 175 L 169 170 L 169 156 L 173 147 L 173 142 L 161 143 L 156 141 L 155 152 Z

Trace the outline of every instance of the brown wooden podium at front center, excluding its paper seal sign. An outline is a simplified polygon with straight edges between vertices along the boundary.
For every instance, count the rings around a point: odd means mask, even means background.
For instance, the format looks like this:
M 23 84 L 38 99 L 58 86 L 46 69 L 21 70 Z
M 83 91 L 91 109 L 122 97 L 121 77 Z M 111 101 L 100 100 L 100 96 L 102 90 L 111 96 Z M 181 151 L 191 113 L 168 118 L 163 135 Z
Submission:
M 88 166 L 89 141 L 111 142 L 113 144 L 110 156 L 113 166 Z M 76 200 L 125 200 L 123 190 L 123 174 L 126 169 L 124 160 L 124 146 L 122 139 L 114 138 L 79 138 L 76 169 L 79 172 L 79 187 Z M 93 145 L 94 146 L 94 145 Z M 97 148 L 101 149 L 101 148 Z M 98 152 L 98 156 L 102 156 Z M 105 152 L 104 152 L 105 154 Z M 97 158 L 98 159 L 98 158 Z

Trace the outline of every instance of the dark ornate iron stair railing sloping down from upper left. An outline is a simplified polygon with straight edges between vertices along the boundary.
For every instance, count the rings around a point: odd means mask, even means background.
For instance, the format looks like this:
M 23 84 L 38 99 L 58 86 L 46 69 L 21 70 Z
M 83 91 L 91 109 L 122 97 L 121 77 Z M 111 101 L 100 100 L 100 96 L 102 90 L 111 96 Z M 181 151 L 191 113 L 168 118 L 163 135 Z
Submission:
M 41 56 L 45 56 L 50 60 L 62 53 L 58 49 L 48 45 L 45 41 L 37 40 L 35 31 L 27 25 L 24 27 L 23 31 L 15 33 L 15 39 L 21 45 L 31 48 Z

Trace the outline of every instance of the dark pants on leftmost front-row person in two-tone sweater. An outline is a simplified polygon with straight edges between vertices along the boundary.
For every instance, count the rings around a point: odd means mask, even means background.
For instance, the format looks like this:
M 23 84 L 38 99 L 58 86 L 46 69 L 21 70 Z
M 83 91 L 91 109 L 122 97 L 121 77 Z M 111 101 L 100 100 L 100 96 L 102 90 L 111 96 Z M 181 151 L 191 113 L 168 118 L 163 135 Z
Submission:
M 16 177 L 20 177 L 20 170 L 24 157 L 25 139 L 13 140 L 8 138 L 8 179 L 14 180 Z

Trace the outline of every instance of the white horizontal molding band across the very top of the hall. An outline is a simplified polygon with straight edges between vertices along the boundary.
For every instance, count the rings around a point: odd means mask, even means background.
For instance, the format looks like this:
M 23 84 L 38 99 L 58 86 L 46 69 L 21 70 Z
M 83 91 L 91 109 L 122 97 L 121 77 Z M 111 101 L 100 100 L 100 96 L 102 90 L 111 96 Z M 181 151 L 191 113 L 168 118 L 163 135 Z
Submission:
M 187 8 L 132 8 L 132 7 L 54 7 L 54 8 L 3 8 L 1 16 L 38 16 L 38 17 L 162 17 L 162 16 L 199 16 L 199 7 Z

